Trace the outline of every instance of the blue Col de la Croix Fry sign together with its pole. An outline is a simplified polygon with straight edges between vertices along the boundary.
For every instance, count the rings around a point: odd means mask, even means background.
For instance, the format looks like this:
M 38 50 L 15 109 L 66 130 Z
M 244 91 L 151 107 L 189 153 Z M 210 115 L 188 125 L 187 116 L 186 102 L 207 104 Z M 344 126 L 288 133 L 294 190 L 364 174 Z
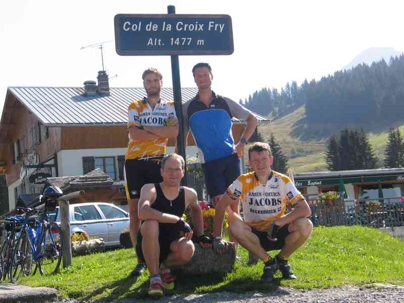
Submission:
M 170 56 L 175 111 L 180 124 L 178 154 L 185 160 L 182 121 L 181 84 L 178 56 L 231 55 L 234 52 L 233 30 L 229 15 L 175 14 L 115 15 L 115 48 L 120 56 Z M 181 185 L 186 185 L 182 178 Z

